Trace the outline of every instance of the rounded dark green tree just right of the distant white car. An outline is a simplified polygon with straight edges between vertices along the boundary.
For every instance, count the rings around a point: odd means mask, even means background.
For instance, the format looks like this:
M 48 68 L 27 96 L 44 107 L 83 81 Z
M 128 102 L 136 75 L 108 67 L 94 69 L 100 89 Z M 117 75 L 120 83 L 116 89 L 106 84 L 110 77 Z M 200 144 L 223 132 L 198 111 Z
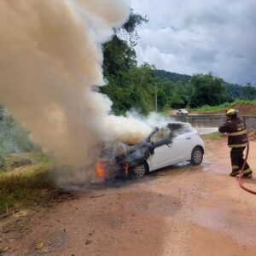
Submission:
M 216 106 L 225 102 L 223 82 L 223 79 L 213 77 L 212 73 L 193 75 L 190 80 L 193 87 L 191 107 Z

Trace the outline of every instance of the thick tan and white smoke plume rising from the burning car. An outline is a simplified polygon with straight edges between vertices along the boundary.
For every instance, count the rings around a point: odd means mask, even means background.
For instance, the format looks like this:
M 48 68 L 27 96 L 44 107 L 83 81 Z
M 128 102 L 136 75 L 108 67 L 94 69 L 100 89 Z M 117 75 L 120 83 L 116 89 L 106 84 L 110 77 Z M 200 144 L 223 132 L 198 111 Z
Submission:
M 99 143 L 136 143 L 137 119 L 108 115 L 102 43 L 127 19 L 120 0 L 1 0 L 0 101 L 62 164 L 90 165 Z

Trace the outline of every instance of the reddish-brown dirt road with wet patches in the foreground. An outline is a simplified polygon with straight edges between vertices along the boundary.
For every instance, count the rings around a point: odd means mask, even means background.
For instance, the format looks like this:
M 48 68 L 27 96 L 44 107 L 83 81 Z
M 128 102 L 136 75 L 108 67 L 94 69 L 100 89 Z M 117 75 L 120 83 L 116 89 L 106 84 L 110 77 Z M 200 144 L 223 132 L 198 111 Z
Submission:
M 251 148 L 256 170 L 255 141 Z M 0 226 L 0 246 L 9 246 L 4 255 L 255 255 L 256 196 L 229 172 L 225 140 L 208 141 L 201 166 L 167 168 L 21 212 Z M 256 189 L 255 177 L 245 182 Z

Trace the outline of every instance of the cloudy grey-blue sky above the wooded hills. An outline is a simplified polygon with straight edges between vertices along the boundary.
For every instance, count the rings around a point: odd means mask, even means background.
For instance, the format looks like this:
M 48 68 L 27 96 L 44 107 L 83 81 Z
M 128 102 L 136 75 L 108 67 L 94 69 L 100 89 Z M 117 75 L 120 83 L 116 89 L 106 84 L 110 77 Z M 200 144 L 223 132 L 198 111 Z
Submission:
M 256 0 L 126 0 L 139 26 L 138 64 L 256 84 Z

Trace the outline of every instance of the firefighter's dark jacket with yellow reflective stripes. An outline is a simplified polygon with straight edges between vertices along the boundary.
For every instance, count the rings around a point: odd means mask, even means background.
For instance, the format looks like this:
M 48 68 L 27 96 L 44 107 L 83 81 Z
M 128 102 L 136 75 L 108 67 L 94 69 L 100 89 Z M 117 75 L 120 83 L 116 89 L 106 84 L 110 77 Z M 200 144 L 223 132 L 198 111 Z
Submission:
M 228 145 L 230 148 L 242 148 L 247 146 L 246 125 L 239 117 L 235 116 L 228 119 L 224 125 L 218 128 L 218 131 L 228 134 Z

